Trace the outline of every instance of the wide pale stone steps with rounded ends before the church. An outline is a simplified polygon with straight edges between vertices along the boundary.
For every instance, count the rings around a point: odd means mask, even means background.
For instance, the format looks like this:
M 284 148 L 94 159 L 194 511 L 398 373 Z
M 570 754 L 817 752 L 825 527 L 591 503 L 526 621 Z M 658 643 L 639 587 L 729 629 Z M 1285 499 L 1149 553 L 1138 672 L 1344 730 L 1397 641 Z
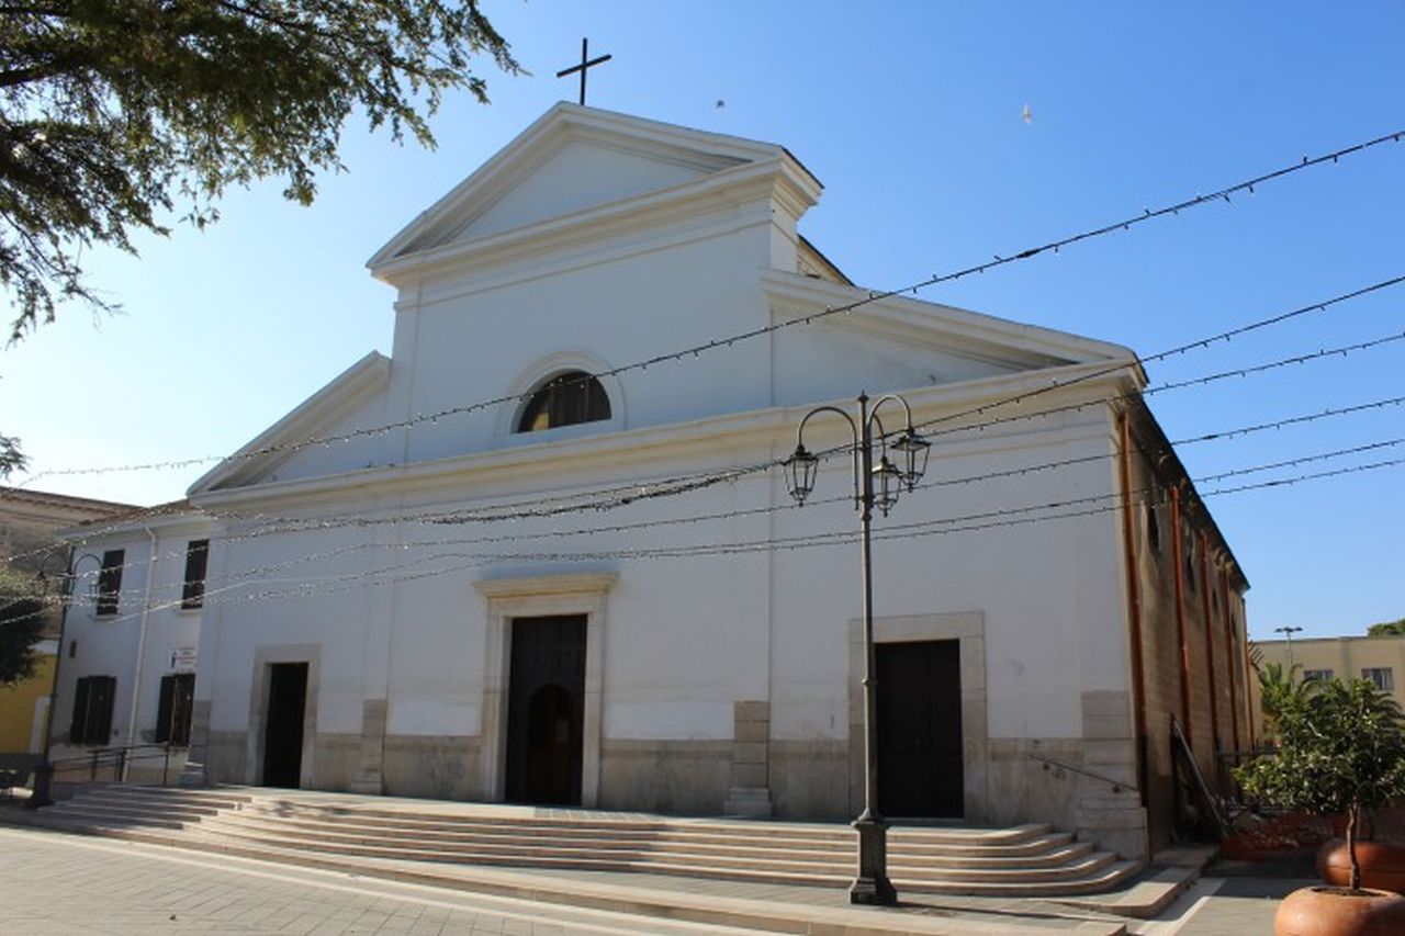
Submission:
M 266 788 L 89 787 L 27 814 L 90 835 L 325 864 L 634 871 L 844 887 L 854 832 L 842 824 L 670 818 L 584 810 L 353 797 Z M 899 892 L 1002 897 L 1094 894 L 1142 869 L 1047 825 L 895 826 L 888 873 Z

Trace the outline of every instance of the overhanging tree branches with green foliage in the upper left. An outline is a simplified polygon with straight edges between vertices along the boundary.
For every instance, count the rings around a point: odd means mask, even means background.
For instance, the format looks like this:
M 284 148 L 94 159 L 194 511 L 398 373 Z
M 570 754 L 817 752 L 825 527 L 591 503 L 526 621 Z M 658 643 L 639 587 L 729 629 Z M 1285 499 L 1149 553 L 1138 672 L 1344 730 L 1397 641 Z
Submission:
M 476 0 L 0 0 L 0 287 L 11 342 L 55 305 L 110 304 L 91 245 L 197 226 L 257 178 L 308 204 L 353 114 L 431 146 L 445 91 L 488 101 L 473 60 L 520 69 Z

